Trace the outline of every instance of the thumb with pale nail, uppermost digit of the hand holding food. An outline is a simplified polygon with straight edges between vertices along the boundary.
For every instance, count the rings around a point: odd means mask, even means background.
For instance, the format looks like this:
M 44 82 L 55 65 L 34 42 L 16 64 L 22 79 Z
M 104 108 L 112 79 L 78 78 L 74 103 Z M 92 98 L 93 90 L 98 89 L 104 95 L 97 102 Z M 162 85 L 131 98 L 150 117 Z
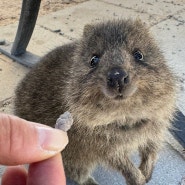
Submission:
M 0 114 L 0 164 L 33 163 L 56 155 L 68 143 L 67 133 L 16 116 Z

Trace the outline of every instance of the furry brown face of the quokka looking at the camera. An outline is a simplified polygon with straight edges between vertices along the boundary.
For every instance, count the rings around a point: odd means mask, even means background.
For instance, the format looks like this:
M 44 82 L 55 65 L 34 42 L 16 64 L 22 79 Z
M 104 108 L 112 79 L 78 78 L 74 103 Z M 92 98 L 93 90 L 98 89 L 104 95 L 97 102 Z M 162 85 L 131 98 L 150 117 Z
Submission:
M 152 96 L 165 87 L 168 68 L 140 21 L 87 25 L 77 52 L 76 74 L 81 88 L 92 96 L 117 101 L 149 92 Z

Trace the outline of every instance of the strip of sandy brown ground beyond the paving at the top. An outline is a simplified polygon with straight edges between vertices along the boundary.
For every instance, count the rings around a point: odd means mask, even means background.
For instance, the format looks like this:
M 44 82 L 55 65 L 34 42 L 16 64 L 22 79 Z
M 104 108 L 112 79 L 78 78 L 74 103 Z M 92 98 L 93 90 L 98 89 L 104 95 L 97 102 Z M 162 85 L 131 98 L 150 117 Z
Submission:
M 67 6 L 78 4 L 86 0 L 42 0 L 39 10 L 40 15 L 61 10 Z M 14 23 L 19 19 L 22 0 L 1 0 L 0 1 L 0 26 Z

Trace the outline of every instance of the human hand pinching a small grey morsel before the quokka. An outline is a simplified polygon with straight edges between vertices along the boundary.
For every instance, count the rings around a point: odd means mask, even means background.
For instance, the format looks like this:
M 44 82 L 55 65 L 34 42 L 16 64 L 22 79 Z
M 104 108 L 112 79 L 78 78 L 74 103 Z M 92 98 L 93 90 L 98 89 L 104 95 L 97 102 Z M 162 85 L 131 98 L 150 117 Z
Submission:
M 28 172 L 9 167 L 2 185 L 65 184 L 59 152 L 68 143 L 66 132 L 4 114 L 0 114 L 0 127 L 0 164 L 30 164 Z

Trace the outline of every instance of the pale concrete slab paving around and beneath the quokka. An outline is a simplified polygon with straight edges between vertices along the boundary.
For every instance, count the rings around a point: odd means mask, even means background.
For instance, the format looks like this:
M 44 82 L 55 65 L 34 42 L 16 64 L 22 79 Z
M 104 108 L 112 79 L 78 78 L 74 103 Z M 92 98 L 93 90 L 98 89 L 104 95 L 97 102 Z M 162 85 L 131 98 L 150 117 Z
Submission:
M 185 115 L 185 0 L 89 0 L 38 18 L 28 51 L 43 56 L 56 46 L 78 39 L 85 24 L 117 18 L 140 18 L 148 24 L 164 55 L 178 76 L 177 106 Z M 17 23 L 0 27 L 0 40 L 13 42 Z M 60 30 L 60 32 L 56 32 Z M 17 83 L 29 71 L 0 54 L 0 112 L 13 113 Z M 137 157 L 134 158 L 138 163 Z M 4 167 L 0 167 L 0 173 Z M 99 167 L 94 172 L 100 185 L 124 185 L 115 171 Z M 161 151 L 149 185 L 179 185 L 185 178 L 185 160 L 171 145 Z M 68 182 L 72 185 L 73 182 Z M 184 184 L 183 184 L 184 185 Z

